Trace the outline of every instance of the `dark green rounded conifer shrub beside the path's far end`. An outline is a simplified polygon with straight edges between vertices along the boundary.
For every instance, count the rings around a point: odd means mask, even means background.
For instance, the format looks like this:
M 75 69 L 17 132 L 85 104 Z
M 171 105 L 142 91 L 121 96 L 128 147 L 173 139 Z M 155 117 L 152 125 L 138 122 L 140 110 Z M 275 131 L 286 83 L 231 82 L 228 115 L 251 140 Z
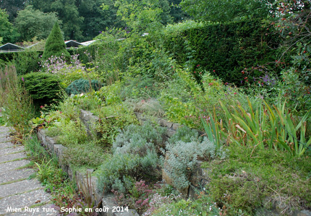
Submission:
M 43 72 L 31 72 L 23 75 L 23 79 L 25 89 L 33 98 L 36 108 L 59 101 L 61 80 L 57 76 Z

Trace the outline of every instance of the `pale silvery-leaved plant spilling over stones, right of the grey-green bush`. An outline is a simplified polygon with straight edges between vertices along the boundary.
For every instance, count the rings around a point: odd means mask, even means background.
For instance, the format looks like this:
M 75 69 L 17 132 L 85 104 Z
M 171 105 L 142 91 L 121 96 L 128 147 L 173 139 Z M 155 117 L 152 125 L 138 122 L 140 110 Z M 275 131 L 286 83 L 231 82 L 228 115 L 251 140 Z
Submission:
M 190 142 L 177 141 L 166 144 L 166 164 L 164 170 L 173 182 L 173 186 L 184 189 L 190 185 L 190 176 L 197 166 L 198 159 L 210 160 L 215 157 L 224 159 L 223 148 L 216 149 L 206 137 L 202 142 L 192 138 Z

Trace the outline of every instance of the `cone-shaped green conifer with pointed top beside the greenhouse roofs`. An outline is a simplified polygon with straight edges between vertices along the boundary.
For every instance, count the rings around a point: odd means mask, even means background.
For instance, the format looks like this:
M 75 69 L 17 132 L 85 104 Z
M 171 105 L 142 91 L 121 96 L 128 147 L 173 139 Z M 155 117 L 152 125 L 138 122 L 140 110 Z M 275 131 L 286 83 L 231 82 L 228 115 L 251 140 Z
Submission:
M 57 22 L 55 22 L 47 42 L 45 43 L 42 59 L 47 60 L 52 55 L 65 56 L 66 60 L 69 60 L 70 58 L 70 54 L 66 50 L 64 38 Z

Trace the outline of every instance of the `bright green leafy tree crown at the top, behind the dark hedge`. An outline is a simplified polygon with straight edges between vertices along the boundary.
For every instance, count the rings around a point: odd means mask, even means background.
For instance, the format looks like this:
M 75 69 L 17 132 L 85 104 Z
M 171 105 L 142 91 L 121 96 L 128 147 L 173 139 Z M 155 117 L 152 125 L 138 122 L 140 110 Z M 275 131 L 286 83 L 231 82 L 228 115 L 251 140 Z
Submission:
M 182 0 L 182 9 L 194 19 L 227 22 L 240 18 L 265 18 L 276 10 L 276 0 Z

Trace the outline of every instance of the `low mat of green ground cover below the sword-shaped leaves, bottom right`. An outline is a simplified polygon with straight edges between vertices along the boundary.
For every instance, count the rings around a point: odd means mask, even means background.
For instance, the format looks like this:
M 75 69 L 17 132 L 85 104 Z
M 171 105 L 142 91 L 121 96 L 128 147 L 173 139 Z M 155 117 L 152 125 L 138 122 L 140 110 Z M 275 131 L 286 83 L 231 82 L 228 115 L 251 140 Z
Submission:
M 205 162 L 210 169 L 210 196 L 228 215 L 254 215 L 260 208 L 284 213 L 311 206 L 310 156 L 295 157 L 273 150 L 228 147 L 226 160 Z M 299 185 L 299 186 L 298 186 Z

